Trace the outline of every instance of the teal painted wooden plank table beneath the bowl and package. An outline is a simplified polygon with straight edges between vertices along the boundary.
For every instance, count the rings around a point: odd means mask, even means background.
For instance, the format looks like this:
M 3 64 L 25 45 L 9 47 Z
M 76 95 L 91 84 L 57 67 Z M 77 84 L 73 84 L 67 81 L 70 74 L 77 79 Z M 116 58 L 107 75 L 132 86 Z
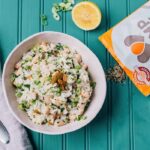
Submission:
M 102 24 L 94 31 L 84 32 L 73 24 L 70 13 L 62 14 L 59 22 L 52 18 L 51 7 L 57 1 L 0 0 L 0 59 L 3 63 L 21 40 L 48 30 L 65 32 L 83 41 L 106 70 L 115 62 L 98 41 L 98 36 L 146 2 L 93 0 L 102 10 Z M 40 14 L 48 16 L 48 26 L 42 26 Z M 108 82 L 105 104 L 88 126 L 58 136 L 27 131 L 35 150 L 149 150 L 150 97 L 141 95 L 128 79 L 125 84 Z

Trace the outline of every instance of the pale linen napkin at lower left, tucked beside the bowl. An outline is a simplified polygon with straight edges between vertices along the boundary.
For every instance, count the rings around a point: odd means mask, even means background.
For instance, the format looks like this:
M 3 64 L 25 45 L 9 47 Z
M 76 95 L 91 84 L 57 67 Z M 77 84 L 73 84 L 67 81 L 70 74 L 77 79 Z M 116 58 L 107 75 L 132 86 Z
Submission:
M 0 150 L 32 150 L 31 143 L 24 127 L 10 113 L 2 92 L 0 65 L 0 120 L 10 134 L 10 143 L 0 142 Z

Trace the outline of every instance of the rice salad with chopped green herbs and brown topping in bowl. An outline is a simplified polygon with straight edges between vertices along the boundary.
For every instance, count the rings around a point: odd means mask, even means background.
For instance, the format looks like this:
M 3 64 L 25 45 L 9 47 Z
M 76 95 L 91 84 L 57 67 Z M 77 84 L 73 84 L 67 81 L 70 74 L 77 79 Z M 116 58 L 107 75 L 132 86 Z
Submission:
M 86 119 L 96 85 L 78 52 L 52 42 L 26 52 L 15 65 L 11 82 L 18 108 L 35 124 L 54 126 Z

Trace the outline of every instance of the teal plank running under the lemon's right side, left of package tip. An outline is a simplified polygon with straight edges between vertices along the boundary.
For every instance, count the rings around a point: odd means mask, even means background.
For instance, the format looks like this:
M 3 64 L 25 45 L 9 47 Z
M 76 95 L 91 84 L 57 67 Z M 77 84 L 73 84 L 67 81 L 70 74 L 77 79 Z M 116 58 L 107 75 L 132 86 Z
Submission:
M 98 36 L 107 30 L 107 11 L 106 11 L 106 1 L 94 0 L 98 7 L 102 11 L 102 23 L 101 25 L 93 31 L 87 34 L 87 44 L 89 48 L 96 54 L 96 56 L 101 61 L 104 69 L 106 70 L 106 49 L 98 41 Z M 108 96 L 106 98 L 105 104 L 97 115 L 97 117 L 87 126 L 87 149 L 91 150 L 106 150 L 109 147 L 108 139 Z

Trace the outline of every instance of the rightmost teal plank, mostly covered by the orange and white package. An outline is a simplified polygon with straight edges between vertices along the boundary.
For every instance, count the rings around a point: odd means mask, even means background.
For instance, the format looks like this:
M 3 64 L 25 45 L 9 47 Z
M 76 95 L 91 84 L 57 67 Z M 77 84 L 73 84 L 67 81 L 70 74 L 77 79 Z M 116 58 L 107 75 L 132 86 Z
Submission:
M 142 6 L 146 0 L 130 0 L 130 11 Z M 136 150 L 149 149 L 149 125 L 150 120 L 150 101 L 149 97 L 144 97 L 137 88 L 131 83 L 131 108 L 132 108 L 132 141 L 133 148 Z

